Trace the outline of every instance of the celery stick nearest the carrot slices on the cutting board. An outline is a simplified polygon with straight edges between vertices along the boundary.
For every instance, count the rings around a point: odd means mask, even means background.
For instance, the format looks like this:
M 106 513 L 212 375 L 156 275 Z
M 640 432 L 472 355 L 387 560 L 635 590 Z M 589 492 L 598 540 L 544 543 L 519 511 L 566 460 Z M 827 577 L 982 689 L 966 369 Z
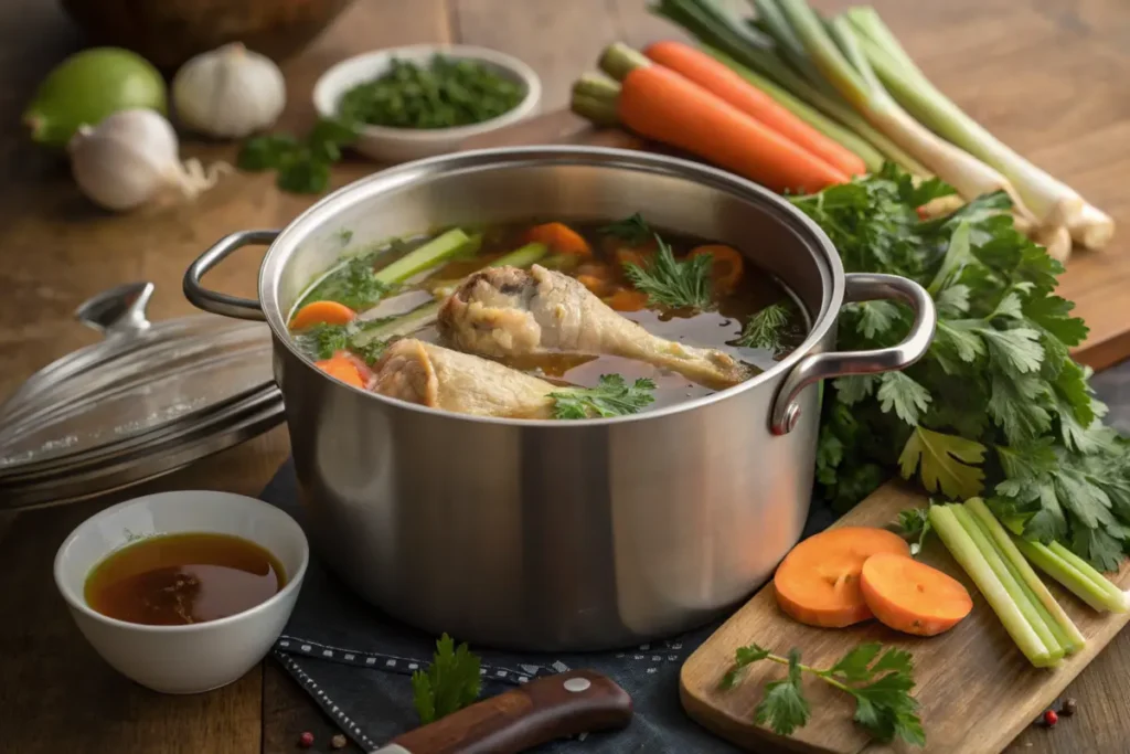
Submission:
M 957 520 L 954 511 L 955 505 L 931 505 L 930 523 L 938 532 L 946 549 L 954 556 L 954 560 L 965 570 L 973 583 L 976 584 L 981 593 L 984 595 L 989 606 L 992 607 L 997 617 L 1005 625 L 1005 631 L 1012 638 L 1016 645 L 1028 658 L 1028 661 L 1037 667 L 1052 664 L 1048 647 L 1040 639 L 1032 625 L 1020 613 L 1019 607 L 1009 596 L 1008 590 L 1001 580 L 989 567 L 976 544 L 965 531 L 965 528 Z

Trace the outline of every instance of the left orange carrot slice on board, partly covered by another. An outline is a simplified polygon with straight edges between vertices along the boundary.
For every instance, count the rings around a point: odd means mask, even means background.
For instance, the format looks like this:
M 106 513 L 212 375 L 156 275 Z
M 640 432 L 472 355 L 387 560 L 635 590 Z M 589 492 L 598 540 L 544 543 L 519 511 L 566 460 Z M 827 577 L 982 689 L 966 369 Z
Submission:
M 871 617 L 860 589 L 863 563 L 879 553 L 910 557 L 898 535 L 871 527 L 828 529 L 792 548 L 773 577 L 777 605 L 796 621 L 838 629 Z

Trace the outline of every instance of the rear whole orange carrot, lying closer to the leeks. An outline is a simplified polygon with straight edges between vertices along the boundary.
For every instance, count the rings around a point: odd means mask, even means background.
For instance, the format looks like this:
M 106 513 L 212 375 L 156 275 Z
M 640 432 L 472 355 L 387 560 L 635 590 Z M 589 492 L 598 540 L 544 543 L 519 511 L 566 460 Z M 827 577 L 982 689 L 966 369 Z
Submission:
M 867 173 L 867 165 L 811 125 L 779 105 L 773 97 L 753 86 L 705 52 L 681 42 L 655 42 L 643 53 L 670 68 L 707 92 L 725 99 L 741 112 L 756 118 L 770 129 L 816 155 L 847 175 Z

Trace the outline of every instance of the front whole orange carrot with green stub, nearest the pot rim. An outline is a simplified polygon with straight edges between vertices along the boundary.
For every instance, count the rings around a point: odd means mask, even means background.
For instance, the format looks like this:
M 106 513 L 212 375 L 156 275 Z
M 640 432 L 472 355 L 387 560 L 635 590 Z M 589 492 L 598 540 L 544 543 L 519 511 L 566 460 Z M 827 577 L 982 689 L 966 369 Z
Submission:
M 620 122 L 641 136 L 686 149 L 774 191 L 815 193 L 850 180 L 843 171 L 631 47 L 610 46 L 601 57 L 601 68 L 620 80 L 616 97 Z

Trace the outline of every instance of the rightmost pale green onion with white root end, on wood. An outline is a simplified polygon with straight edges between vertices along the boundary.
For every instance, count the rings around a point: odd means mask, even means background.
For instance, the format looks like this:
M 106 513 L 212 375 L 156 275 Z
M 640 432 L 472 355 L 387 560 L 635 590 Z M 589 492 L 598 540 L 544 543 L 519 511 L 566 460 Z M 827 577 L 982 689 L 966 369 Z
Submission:
M 939 92 L 873 8 L 853 8 L 846 18 L 859 32 L 861 46 L 890 93 L 922 123 L 1000 171 L 1042 225 L 1054 226 L 1063 222 L 1069 227 L 1072 223 L 1079 225 L 1085 205 L 1083 198 L 999 141 Z M 1089 226 L 1077 240 L 1101 248 L 1113 235 L 1113 220 L 1094 207 L 1090 211 L 1094 218 L 1085 223 Z

